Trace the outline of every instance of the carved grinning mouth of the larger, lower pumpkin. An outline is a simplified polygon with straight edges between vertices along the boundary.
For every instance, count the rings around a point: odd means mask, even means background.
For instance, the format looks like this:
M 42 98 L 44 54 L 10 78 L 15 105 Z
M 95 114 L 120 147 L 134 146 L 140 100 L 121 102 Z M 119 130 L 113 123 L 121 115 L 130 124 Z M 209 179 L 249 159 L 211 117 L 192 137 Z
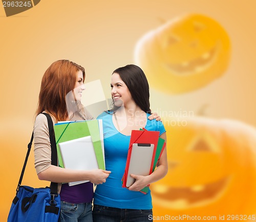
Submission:
M 218 181 L 193 187 L 170 187 L 151 185 L 153 198 L 163 207 L 185 209 L 192 206 L 207 204 L 220 197 L 229 182 L 228 177 Z

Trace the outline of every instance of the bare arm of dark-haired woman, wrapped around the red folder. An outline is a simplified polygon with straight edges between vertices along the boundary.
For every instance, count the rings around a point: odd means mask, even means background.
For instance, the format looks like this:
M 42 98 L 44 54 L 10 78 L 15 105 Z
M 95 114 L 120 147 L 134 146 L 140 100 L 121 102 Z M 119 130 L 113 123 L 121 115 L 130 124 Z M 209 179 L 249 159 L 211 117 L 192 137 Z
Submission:
M 160 138 L 165 140 L 166 143 L 166 132 L 164 132 Z M 155 171 L 148 175 L 148 176 L 142 176 L 142 175 L 134 175 L 131 176 L 136 180 L 132 186 L 130 186 L 129 190 L 134 191 L 140 191 L 148 184 L 152 184 L 156 181 L 161 180 L 168 172 L 168 163 L 167 163 L 167 152 L 166 152 L 167 143 L 165 145 L 165 148 L 163 150 L 163 153 L 161 155 L 161 158 L 158 162 L 158 166 L 155 169 Z

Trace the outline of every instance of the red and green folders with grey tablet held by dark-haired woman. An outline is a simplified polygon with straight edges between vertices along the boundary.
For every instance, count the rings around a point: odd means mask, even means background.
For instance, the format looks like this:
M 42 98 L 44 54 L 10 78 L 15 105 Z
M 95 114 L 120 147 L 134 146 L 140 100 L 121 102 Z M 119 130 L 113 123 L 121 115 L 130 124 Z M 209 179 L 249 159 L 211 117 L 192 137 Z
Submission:
M 165 147 L 165 141 L 159 138 L 159 134 L 159 131 L 147 131 L 145 128 L 132 130 L 122 187 L 129 187 L 135 182 L 131 174 L 145 176 L 154 172 Z M 140 192 L 146 194 L 149 186 Z

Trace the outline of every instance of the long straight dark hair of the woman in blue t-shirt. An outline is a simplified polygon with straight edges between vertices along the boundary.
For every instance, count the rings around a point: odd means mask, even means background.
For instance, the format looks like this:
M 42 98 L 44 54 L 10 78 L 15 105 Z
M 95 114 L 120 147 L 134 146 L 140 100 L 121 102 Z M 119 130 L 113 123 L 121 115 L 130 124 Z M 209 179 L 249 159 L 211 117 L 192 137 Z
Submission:
M 151 114 L 150 109 L 150 86 L 148 85 L 146 76 L 139 66 L 134 64 L 125 65 L 116 69 L 114 73 L 119 74 L 122 81 L 129 89 L 134 102 L 145 112 Z M 110 110 L 115 112 L 119 107 L 115 106 Z

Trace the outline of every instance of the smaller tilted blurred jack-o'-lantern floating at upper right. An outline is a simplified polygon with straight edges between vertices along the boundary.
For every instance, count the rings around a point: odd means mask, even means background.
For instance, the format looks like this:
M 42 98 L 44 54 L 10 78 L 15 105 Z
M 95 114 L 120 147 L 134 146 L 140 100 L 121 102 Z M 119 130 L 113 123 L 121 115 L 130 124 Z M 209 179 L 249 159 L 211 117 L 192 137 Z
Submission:
M 135 60 L 150 85 L 167 93 L 202 87 L 226 70 L 230 41 L 217 21 L 188 15 L 166 23 L 138 42 Z

